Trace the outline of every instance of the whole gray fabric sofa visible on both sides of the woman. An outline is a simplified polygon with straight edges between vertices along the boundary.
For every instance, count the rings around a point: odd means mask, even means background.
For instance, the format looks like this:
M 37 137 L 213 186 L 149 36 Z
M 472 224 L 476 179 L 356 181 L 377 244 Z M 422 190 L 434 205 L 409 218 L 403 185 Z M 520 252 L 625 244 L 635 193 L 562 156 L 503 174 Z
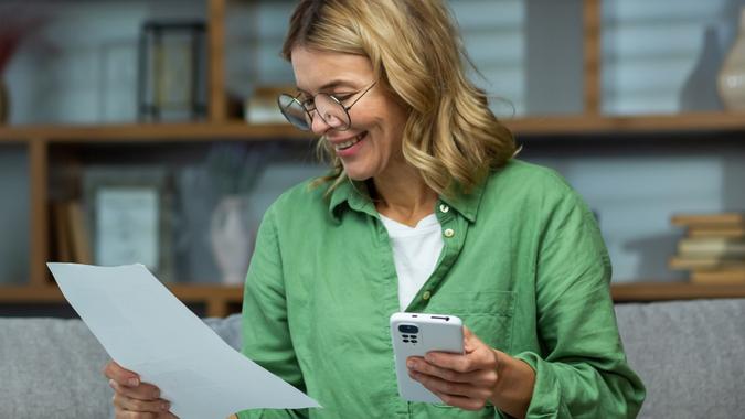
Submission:
M 745 416 L 745 299 L 616 305 L 642 418 Z M 237 315 L 205 319 L 233 347 Z M 0 319 L 0 418 L 109 418 L 108 356 L 77 320 Z

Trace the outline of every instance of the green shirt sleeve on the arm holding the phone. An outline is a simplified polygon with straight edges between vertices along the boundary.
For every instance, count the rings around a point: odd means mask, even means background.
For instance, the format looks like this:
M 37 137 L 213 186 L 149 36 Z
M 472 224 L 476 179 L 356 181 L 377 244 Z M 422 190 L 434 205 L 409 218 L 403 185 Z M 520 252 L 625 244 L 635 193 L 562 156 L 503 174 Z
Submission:
M 595 216 L 579 196 L 544 201 L 536 262 L 542 353 L 515 356 L 535 370 L 529 418 L 635 418 L 645 387 L 624 353 L 610 260 Z

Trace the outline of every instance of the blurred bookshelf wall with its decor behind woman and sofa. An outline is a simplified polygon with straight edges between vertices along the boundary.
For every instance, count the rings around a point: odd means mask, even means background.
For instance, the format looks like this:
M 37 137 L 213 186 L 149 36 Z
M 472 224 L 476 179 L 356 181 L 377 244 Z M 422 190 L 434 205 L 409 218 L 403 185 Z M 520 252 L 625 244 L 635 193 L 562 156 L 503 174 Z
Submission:
M 745 1 L 448 3 L 520 158 L 595 212 L 616 301 L 745 296 Z M 275 109 L 294 4 L 0 1 L 0 315 L 74 315 L 46 261 L 240 310 L 264 211 L 324 171 Z

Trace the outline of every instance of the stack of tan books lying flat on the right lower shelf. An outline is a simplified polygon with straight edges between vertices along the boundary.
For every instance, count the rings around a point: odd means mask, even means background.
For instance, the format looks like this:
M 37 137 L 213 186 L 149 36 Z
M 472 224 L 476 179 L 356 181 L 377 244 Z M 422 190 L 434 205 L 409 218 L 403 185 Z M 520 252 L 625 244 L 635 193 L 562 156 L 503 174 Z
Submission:
M 675 215 L 685 228 L 670 268 L 689 270 L 691 282 L 745 283 L 745 213 Z

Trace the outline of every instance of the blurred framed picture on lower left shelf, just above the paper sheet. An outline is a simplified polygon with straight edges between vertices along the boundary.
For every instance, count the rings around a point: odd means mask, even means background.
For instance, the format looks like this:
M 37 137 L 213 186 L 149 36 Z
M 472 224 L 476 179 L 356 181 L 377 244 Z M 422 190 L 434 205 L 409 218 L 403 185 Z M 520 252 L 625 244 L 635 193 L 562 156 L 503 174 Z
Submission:
M 93 261 L 142 264 L 173 281 L 172 198 L 164 170 L 94 166 L 84 174 Z

